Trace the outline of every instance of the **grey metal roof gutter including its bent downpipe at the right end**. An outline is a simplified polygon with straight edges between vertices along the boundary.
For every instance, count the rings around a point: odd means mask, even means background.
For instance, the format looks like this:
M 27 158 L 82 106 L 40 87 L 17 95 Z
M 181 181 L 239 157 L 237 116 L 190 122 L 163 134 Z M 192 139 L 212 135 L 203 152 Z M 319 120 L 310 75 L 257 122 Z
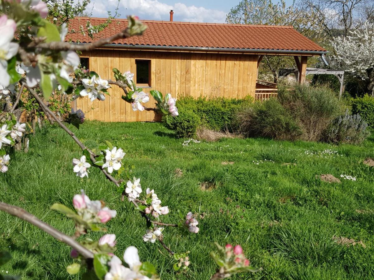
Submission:
M 73 44 L 89 44 L 89 43 L 73 43 Z M 191 51 L 223 51 L 223 52 L 256 52 L 256 53 L 288 53 L 295 55 L 321 55 L 322 61 L 325 62 L 324 55 L 327 51 L 311 51 L 311 50 L 262 50 L 262 49 L 226 49 L 212 47 L 171 47 L 171 46 L 144 46 L 144 45 L 121 45 L 121 44 L 105 44 L 103 47 L 117 47 L 129 49 L 162 49 L 162 50 L 191 50 Z M 327 62 L 325 62 L 326 64 Z M 328 65 L 328 64 L 327 64 Z

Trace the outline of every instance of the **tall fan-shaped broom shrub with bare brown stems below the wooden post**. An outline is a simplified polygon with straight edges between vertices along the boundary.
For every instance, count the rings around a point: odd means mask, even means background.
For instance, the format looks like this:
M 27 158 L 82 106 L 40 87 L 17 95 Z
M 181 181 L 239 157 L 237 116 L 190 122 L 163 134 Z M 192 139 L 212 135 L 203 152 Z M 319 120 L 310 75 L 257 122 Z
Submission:
M 321 140 L 324 131 L 344 112 L 343 101 L 328 87 L 296 84 L 278 90 L 278 100 L 303 131 L 301 139 Z

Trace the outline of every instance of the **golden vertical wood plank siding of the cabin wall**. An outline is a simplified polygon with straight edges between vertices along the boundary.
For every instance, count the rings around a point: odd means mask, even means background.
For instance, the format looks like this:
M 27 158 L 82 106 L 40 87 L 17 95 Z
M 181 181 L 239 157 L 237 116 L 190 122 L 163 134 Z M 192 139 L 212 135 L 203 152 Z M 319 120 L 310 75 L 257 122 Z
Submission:
M 150 59 L 151 87 L 143 87 L 146 93 L 159 90 L 163 94 L 171 93 L 177 99 L 183 96 L 255 96 L 257 55 L 98 49 L 83 52 L 81 56 L 89 57 L 89 69 L 107 80 L 114 79 L 113 68 L 134 73 L 135 59 Z M 79 98 L 76 109 L 82 109 L 86 118 L 99 121 L 155 121 L 153 112 L 132 111 L 131 105 L 121 99 L 119 87 L 112 85 L 109 94 L 104 102 Z M 146 106 L 154 107 L 153 97 Z

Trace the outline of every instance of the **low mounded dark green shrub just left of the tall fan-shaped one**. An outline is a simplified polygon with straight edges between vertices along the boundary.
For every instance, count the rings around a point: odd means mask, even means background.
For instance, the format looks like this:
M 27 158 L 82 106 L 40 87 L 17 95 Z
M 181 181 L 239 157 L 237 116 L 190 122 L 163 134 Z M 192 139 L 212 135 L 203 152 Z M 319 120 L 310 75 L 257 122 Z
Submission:
M 295 140 L 300 127 L 278 99 L 271 98 L 243 108 L 237 115 L 240 132 L 248 136 L 265 136 L 278 140 Z

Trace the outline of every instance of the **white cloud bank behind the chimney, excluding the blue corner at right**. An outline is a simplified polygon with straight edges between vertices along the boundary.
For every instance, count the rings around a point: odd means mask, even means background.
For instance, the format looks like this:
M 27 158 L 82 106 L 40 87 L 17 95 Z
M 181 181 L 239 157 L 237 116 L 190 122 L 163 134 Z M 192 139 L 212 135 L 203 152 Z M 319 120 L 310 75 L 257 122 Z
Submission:
M 117 4 L 117 0 L 95 0 L 88 10 L 91 11 L 93 5 L 92 16 L 103 17 L 107 15 L 107 10 L 113 11 Z M 141 19 L 168 21 L 170 10 L 174 10 L 174 21 L 223 23 L 226 19 L 224 11 L 183 3 L 175 3 L 173 6 L 158 0 L 121 0 L 119 3 L 121 18 L 137 15 Z

